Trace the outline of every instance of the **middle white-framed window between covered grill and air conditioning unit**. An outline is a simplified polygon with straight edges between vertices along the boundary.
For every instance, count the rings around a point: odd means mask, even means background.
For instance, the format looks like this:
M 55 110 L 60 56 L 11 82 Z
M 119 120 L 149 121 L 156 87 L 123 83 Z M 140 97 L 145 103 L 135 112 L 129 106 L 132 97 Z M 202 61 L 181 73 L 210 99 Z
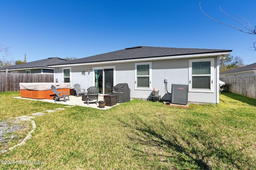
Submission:
M 152 90 L 152 63 L 135 63 L 135 90 Z

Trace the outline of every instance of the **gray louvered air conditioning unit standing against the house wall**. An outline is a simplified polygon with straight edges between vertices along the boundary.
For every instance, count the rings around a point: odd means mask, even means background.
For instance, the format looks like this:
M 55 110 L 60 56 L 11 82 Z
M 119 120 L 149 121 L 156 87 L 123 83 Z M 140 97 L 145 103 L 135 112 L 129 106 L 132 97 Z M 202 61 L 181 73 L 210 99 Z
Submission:
M 172 84 L 172 102 L 173 104 L 188 104 L 188 85 Z

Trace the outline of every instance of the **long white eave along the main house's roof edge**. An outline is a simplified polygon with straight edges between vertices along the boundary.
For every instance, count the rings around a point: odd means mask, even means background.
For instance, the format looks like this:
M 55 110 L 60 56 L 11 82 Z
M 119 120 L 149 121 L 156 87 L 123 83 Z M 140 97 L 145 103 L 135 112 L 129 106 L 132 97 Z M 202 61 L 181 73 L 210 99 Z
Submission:
M 162 56 L 162 57 L 145 57 L 145 58 L 139 58 L 139 59 L 125 59 L 125 60 L 101 61 L 101 62 L 91 62 L 91 63 L 76 63 L 76 64 L 58 64 L 58 65 L 50 65 L 50 66 L 51 67 L 63 67 L 63 66 L 68 67 L 68 66 L 84 66 L 84 65 L 94 65 L 94 64 L 130 63 L 130 62 L 143 62 L 143 61 L 156 61 L 156 60 L 226 56 L 226 55 L 229 55 L 231 52 L 232 51 L 222 51 L 222 52 L 214 52 L 214 53 L 172 55 L 172 56 Z

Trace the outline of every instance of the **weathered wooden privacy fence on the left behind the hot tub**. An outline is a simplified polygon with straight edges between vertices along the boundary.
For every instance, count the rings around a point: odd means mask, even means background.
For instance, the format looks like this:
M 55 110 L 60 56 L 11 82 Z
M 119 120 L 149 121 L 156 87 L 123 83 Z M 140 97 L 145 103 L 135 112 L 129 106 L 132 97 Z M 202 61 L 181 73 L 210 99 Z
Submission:
M 0 73 L 0 92 L 19 92 L 19 83 L 54 82 L 53 74 Z

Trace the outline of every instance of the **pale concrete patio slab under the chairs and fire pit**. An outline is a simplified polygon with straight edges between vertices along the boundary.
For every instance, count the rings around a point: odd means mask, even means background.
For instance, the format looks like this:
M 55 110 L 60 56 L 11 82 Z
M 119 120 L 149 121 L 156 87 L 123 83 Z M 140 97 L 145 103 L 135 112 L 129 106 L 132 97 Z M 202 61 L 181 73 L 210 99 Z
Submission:
M 76 97 L 76 96 L 69 96 L 70 100 L 66 100 L 66 102 L 64 102 L 63 99 L 60 99 L 61 101 L 58 102 L 54 102 L 54 100 L 50 100 L 50 99 L 31 99 L 31 98 L 22 98 L 20 96 L 18 97 L 14 97 L 17 99 L 24 99 L 24 100 L 36 100 L 36 101 L 41 101 L 41 102 L 50 102 L 50 103 L 56 103 L 56 104 L 64 104 L 64 105 L 70 105 L 70 106 L 83 106 L 83 107 L 92 107 L 92 108 L 96 108 L 96 109 L 110 109 L 111 107 L 117 106 L 120 103 L 117 103 L 114 106 L 105 106 L 104 108 L 100 108 L 99 104 L 96 104 L 96 100 L 90 101 L 89 102 L 89 106 L 87 105 L 87 103 L 84 103 L 85 101 L 82 101 L 82 96 Z M 98 97 L 98 101 L 103 100 L 103 96 L 99 96 Z

